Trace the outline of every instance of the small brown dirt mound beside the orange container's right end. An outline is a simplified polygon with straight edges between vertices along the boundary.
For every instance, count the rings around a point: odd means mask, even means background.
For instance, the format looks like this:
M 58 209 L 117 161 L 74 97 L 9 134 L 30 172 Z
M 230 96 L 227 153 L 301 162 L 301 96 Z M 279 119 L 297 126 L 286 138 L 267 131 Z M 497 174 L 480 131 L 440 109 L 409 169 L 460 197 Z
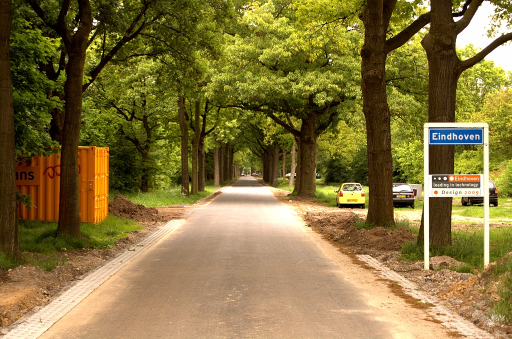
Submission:
M 119 218 L 132 219 L 143 223 L 156 224 L 166 222 L 166 218 L 158 215 L 158 210 L 153 207 L 134 204 L 125 196 L 117 195 L 109 202 L 109 213 Z

